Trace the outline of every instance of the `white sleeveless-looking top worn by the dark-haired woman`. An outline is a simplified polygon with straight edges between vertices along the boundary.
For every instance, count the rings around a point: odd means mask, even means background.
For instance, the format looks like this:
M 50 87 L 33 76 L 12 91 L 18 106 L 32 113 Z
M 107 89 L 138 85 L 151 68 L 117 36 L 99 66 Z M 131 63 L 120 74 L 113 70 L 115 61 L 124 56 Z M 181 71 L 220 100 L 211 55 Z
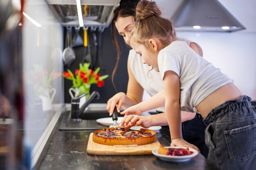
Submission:
M 180 39 L 186 42 L 187 45 L 190 44 L 190 40 Z M 156 72 L 155 69 L 148 72 L 152 67 L 143 64 L 141 57 L 131 49 L 128 56 L 130 69 L 132 74 L 135 76 L 136 81 L 141 85 L 141 87 L 148 92 L 150 96 L 154 96 L 158 92 L 164 90 L 163 81 L 161 74 Z M 160 112 L 165 112 L 164 106 L 157 108 Z

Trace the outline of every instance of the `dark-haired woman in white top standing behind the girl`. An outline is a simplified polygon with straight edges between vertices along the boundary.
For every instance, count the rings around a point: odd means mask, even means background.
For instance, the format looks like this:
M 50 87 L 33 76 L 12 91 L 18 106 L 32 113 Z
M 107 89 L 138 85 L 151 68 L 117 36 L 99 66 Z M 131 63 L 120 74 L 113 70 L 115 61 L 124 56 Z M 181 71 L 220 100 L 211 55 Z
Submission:
M 122 0 L 120 2 L 120 6 L 114 11 L 112 19 L 112 36 L 118 57 L 117 64 L 112 74 L 112 81 L 120 58 L 120 50 L 115 36 L 115 27 L 117 28 L 118 33 L 124 37 L 126 44 L 130 45 L 130 31 L 135 23 L 134 16 L 138 2 L 140 2 L 140 0 Z M 176 34 L 175 31 L 173 34 Z M 199 45 L 194 42 L 190 42 L 189 40 L 184 41 L 189 44 L 189 47 L 202 56 L 202 49 Z M 108 100 L 106 109 L 110 112 L 110 116 L 112 115 L 116 104 L 117 110 L 120 112 L 121 107 L 128 108 L 140 103 L 142 101 L 144 89 L 148 94 L 150 94 L 150 96 L 153 96 L 163 90 L 160 74 L 155 72 L 155 70 L 151 70 L 151 67 L 143 65 L 141 63 L 141 58 L 138 57 L 133 49 L 130 50 L 127 67 L 129 76 L 127 93 L 119 92 Z M 151 71 L 148 72 L 149 70 Z M 158 108 L 157 110 L 165 112 L 164 107 Z M 141 113 L 133 114 L 140 115 Z M 165 113 L 161 113 L 151 116 L 137 116 L 137 119 L 143 119 L 143 122 L 145 123 L 143 126 L 147 128 L 154 125 L 168 125 L 165 117 Z M 157 124 L 155 124 L 154 120 L 158 120 Z M 208 148 L 204 143 L 204 129 L 206 128 L 206 125 L 202 122 L 200 114 L 182 112 L 182 122 L 184 122 L 182 123 L 182 135 L 184 139 L 198 146 L 201 153 L 206 157 L 208 154 Z

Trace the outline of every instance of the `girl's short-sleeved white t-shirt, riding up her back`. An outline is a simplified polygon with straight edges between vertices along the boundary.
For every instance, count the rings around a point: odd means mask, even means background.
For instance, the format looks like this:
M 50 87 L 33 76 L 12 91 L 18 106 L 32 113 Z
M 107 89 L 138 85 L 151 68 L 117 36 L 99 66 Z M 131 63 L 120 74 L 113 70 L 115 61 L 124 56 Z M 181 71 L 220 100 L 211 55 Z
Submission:
M 176 40 L 159 51 L 158 67 L 162 79 L 168 70 L 180 77 L 182 111 L 196 112 L 196 106 L 216 89 L 233 83 L 220 69 L 195 53 L 186 42 Z

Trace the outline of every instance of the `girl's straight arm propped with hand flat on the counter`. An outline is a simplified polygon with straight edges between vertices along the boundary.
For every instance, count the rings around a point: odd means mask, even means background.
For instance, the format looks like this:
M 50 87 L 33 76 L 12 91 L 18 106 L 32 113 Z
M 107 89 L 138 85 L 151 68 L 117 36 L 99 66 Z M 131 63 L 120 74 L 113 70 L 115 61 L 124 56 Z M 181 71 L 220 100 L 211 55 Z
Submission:
M 180 115 L 180 78 L 173 71 L 166 71 L 163 78 L 166 117 L 171 134 L 171 146 L 184 146 L 200 150 L 182 139 Z

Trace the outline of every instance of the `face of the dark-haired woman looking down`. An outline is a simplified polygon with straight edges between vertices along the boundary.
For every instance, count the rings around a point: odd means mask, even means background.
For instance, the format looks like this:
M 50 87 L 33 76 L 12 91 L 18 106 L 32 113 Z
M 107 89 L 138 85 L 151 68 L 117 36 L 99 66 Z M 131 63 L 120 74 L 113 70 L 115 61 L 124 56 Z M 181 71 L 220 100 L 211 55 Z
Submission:
M 133 16 L 118 17 L 115 22 L 118 33 L 124 37 L 126 44 L 130 45 L 130 31 L 135 23 Z

